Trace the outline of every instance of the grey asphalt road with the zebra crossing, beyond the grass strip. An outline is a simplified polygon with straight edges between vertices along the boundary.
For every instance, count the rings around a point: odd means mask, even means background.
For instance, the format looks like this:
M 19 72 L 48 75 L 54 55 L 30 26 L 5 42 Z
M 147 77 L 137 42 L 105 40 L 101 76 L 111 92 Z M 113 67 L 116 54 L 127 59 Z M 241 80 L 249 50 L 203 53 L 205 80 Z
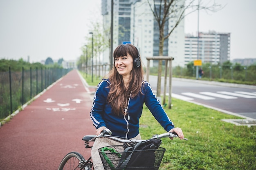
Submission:
M 157 76 L 150 76 L 153 90 L 156 90 L 156 82 Z M 172 97 L 242 118 L 256 119 L 256 86 L 173 78 Z

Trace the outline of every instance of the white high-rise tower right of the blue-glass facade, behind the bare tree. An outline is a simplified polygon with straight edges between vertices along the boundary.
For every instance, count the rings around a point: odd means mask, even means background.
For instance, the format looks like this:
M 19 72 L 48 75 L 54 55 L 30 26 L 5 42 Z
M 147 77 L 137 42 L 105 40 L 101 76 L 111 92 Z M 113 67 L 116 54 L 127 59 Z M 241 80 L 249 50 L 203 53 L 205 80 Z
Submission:
M 154 1 L 149 0 L 152 7 Z M 155 0 L 156 8 L 160 7 L 160 1 Z M 177 1 L 175 5 L 183 5 L 184 0 Z M 174 14 L 173 14 L 174 15 Z M 164 25 L 164 35 L 167 35 L 176 24 L 177 17 L 170 16 Z M 143 62 L 146 57 L 159 56 L 159 26 L 151 11 L 148 0 L 133 0 L 131 8 L 131 40 L 141 52 Z M 173 66 L 184 65 L 184 20 L 174 29 L 171 35 L 164 41 L 163 56 L 174 57 Z M 150 63 L 157 65 L 158 61 Z

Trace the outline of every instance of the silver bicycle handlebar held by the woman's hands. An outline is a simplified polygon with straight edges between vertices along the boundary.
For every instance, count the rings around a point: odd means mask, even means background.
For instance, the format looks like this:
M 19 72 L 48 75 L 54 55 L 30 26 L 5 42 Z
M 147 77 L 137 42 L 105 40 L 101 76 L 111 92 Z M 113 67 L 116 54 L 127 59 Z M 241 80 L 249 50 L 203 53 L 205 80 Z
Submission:
M 139 140 L 139 139 L 121 139 L 119 137 L 111 136 L 111 134 L 112 134 L 112 132 L 106 128 L 101 132 L 101 134 L 95 136 L 90 141 L 94 141 L 94 139 L 98 138 L 98 137 L 107 137 L 108 139 L 114 140 L 116 142 L 121 142 L 121 143 L 145 141 L 145 140 Z M 164 137 L 179 137 L 179 136 L 176 133 L 168 132 L 168 133 L 162 133 L 160 135 L 153 135 L 153 137 L 150 139 L 160 139 L 160 138 L 164 138 Z M 184 138 L 184 140 L 188 140 L 188 139 Z

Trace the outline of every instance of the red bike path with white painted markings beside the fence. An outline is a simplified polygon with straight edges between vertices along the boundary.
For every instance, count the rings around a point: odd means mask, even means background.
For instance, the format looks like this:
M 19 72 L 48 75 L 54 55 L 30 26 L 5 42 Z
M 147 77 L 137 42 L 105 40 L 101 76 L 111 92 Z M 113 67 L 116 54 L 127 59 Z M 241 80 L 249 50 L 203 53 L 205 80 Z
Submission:
M 0 170 L 57 170 L 71 151 L 90 155 L 82 137 L 95 134 L 95 89 L 80 77 L 72 70 L 0 127 Z

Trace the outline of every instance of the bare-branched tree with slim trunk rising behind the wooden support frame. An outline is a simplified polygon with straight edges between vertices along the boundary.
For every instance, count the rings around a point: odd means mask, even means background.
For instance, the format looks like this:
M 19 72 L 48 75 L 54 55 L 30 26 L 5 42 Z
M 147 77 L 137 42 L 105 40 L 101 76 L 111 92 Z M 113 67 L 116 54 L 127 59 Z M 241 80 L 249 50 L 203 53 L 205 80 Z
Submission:
M 159 27 L 159 56 L 163 56 L 164 40 L 173 33 L 173 30 L 180 24 L 186 15 L 193 13 L 194 11 L 204 9 L 206 11 L 216 12 L 221 9 L 221 5 L 213 2 L 211 5 L 204 5 L 199 0 L 198 4 L 196 0 L 147 0 L 149 7 L 155 17 L 155 20 Z M 152 3 L 153 1 L 153 3 Z M 190 9 L 189 13 L 185 14 L 185 11 Z M 169 19 L 174 19 L 174 26 L 172 29 L 164 35 L 164 26 Z M 172 69 L 172 68 L 169 68 Z M 158 78 L 157 78 L 157 96 L 161 93 L 161 73 L 162 73 L 162 60 L 158 63 Z

